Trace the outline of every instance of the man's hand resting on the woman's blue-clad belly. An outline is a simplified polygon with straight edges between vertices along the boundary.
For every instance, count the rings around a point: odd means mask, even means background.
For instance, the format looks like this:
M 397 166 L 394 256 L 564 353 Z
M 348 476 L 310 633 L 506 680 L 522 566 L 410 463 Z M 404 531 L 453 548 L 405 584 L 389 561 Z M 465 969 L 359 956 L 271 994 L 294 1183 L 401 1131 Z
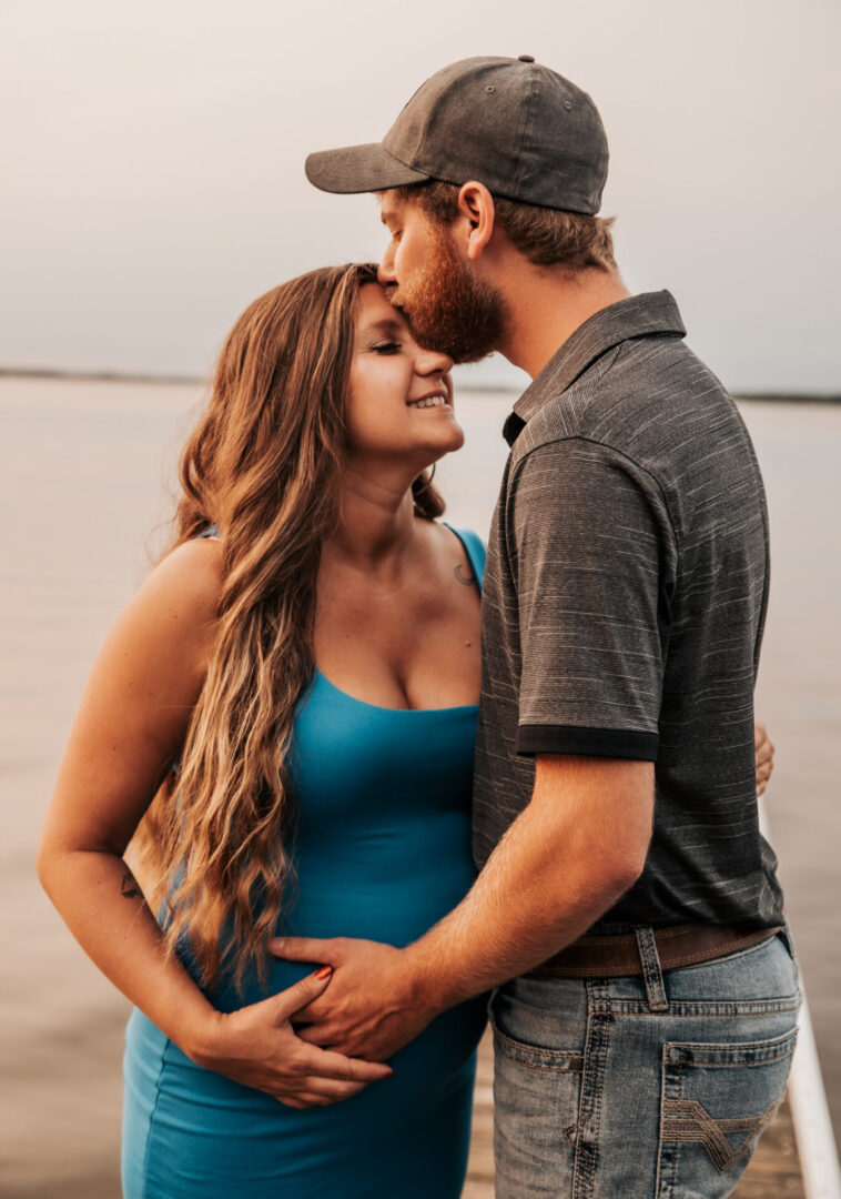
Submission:
M 310 1044 L 368 1061 L 386 1061 L 412 1041 L 441 1008 L 423 994 L 411 953 L 350 938 L 276 938 L 271 952 L 288 962 L 333 968 L 327 993 L 296 1013 L 298 1036 Z

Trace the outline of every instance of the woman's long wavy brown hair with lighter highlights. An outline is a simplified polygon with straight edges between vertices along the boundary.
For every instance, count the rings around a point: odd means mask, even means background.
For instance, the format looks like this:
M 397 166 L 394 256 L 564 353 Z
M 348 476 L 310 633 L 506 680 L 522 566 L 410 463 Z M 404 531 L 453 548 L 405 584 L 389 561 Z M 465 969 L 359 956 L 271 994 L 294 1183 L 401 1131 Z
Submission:
M 241 987 L 249 963 L 265 980 L 294 881 L 288 755 L 313 677 L 321 546 L 339 522 L 357 300 L 375 282 L 369 265 L 329 267 L 255 300 L 181 458 L 167 553 L 218 528 L 218 635 L 180 767 L 132 855 L 150 900 L 165 903 L 169 952 L 186 942 L 207 988 L 223 970 Z M 418 516 L 443 512 L 428 472 L 412 490 Z

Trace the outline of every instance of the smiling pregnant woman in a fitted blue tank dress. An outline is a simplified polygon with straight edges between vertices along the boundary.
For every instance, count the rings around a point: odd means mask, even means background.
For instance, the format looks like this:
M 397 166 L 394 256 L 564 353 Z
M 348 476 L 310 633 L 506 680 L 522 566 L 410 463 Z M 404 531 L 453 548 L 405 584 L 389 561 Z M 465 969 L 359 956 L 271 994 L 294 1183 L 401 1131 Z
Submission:
M 329 969 L 266 952 L 405 945 L 472 881 L 484 552 L 426 474 L 462 442 L 450 366 L 370 267 L 252 305 L 93 667 L 40 872 L 137 1005 L 126 1199 L 460 1194 L 483 1002 L 352 1061 L 295 1032 Z

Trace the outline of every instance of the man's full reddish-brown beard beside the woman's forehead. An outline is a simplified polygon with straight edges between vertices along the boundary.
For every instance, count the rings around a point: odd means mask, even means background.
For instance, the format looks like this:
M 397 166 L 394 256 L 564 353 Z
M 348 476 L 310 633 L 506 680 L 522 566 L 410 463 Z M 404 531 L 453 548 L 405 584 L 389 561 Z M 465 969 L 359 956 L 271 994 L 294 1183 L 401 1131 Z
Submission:
M 435 229 L 429 266 L 391 299 L 418 345 L 453 362 L 478 362 L 500 348 L 506 332 L 502 296 L 471 273 L 443 228 Z

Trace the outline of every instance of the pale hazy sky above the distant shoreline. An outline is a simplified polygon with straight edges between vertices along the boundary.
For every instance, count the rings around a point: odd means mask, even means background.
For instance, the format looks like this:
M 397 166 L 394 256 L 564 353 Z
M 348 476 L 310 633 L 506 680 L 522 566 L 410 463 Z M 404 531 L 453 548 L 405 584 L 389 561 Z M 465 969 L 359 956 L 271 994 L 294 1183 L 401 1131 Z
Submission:
M 0 367 L 205 374 L 256 295 L 382 249 L 310 150 L 533 54 L 601 112 L 631 290 L 734 390 L 841 393 L 840 53 L 837 0 L 0 0 Z

